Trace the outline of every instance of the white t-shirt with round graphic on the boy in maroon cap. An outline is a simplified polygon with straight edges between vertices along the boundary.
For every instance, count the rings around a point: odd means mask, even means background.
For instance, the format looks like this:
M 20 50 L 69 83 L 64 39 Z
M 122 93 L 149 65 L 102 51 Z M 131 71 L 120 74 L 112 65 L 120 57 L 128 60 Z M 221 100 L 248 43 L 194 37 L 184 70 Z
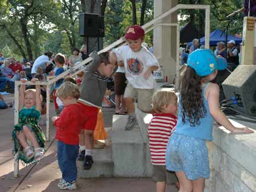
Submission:
M 116 53 L 117 60 L 123 60 L 126 79 L 133 88 L 156 88 L 153 75 L 147 80 L 143 76 L 149 67 L 158 66 L 159 68 L 159 63 L 151 52 L 143 46 L 139 52 L 133 52 L 129 46 L 123 46 L 115 49 L 114 53 Z

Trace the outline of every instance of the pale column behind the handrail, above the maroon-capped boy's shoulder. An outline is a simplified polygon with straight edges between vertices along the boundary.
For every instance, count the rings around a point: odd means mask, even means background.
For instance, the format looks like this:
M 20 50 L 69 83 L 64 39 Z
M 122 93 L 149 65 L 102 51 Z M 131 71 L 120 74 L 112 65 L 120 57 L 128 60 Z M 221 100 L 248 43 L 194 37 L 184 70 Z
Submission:
M 154 18 L 177 5 L 177 0 L 154 0 Z M 177 23 L 177 12 L 165 17 L 161 23 Z M 153 51 L 159 64 L 164 66 L 165 76 L 172 82 L 176 73 L 177 29 L 159 26 L 153 31 Z

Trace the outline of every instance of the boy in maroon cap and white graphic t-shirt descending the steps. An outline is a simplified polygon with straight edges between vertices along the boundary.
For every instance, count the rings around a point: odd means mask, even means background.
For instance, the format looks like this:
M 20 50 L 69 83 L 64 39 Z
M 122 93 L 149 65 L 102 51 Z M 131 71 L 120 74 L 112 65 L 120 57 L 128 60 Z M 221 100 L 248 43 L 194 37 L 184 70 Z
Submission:
M 158 70 L 159 63 L 155 56 L 142 46 L 145 40 L 145 31 L 139 25 L 127 28 L 124 36 L 127 46 L 117 48 L 111 52 L 110 60 L 123 61 L 128 85 L 124 92 L 124 101 L 128 110 L 128 121 L 125 130 L 133 129 L 137 123 L 133 100 L 137 98 L 137 107 L 152 113 L 152 95 L 156 88 L 156 81 L 152 72 Z

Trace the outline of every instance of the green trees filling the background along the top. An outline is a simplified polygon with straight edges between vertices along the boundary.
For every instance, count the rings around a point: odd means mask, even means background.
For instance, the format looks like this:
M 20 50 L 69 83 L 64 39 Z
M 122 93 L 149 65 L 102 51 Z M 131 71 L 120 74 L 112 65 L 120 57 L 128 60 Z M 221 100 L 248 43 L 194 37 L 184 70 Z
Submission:
M 100 0 L 98 0 L 100 1 Z M 78 15 L 91 9 L 84 0 L 1 0 L 0 1 L 0 52 L 5 57 L 33 60 L 52 50 L 53 53 L 71 55 L 73 47 L 81 47 Z M 94 2 L 94 1 L 91 1 Z M 153 19 L 153 0 L 102 0 L 101 15 L 105 17 L 104 46 L 124 36 L 132 24 L 142 25 Z M 223 30 L 226 15 L 242 7 L 241 0 L 180 0 L 180 4 L 209 4 L 211 30 Z M 89 6 L 89 7 L 85 7 Z M 204 11 L 180 10 L 181 25 L 193 22 L 204 31 Z M 229 33 L 242 33 L 242 15 L 233 20 Z M 152 32 L 146 36 L 150 45 Z

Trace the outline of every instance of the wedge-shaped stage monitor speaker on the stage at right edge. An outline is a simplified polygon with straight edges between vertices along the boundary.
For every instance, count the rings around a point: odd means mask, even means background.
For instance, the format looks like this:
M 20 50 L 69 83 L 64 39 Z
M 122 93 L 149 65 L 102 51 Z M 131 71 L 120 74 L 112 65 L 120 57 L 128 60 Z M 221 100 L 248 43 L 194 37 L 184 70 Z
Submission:
M 222 83 L 226 99 L 235 97 L 236 110 L 256 116 L 256 66 L 239 65 Z

